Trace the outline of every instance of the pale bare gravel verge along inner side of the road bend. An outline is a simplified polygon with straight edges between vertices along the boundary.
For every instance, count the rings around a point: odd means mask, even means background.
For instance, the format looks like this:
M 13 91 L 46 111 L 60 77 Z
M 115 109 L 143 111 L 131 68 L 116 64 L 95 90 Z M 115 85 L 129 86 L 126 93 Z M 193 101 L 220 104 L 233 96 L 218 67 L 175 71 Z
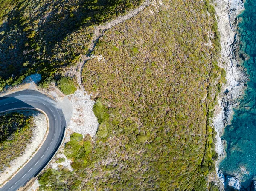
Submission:
M 29 160 L 29 158 L 34 154 L 39 145 L 41 145 L 47 131 L 47 120 L 44 114 L 35 110 L 25 110 L 22 113 L 26 115 L 32 114 L 34 117 L 35 128 L 33 132 L 32 142 L 27 145 L 27 148 L 24 151 L 23 155 L 13 160 L 10 163 L 10 167 L 6 168 L 5 171 L 0 174 L 0 184 L 6 181 L 12 174 L 17 171 L 17 169 L 22 167 L 26 163 L 26 161 Z

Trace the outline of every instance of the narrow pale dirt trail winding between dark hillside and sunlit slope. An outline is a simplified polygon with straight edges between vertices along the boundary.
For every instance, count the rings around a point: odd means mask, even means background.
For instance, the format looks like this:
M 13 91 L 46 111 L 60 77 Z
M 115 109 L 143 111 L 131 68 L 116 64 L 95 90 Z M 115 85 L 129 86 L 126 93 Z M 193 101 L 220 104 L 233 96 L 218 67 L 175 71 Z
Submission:
M 81 87 L 82 90 L 84 90 L 83 85 L 82 85 L 82 70 L 84 67 L 84 64 L 90 60 L 90 54 L 92 53 L 92 51 L 94 50 L 96 43 L 98 42 L 99 38 L 102 37 L 104 31 L 112 28 L 113 26 L 118 25 L 119 23 L 123 23 L 125 20 L 130 19 L 131 17 L 134 17 L 135 15 L 137 15 L 138 13 L 140 13 L 140 11 L 143 11 L 143 9 L 145 9 L 145 7 L 149 6 L 151 3 L 151 0 L 146 0 L 142 5 L 140 5 L 137 9 L 133 9 L 131 11 L 128 12 L 128 14 L 125 14 L 123 16 L 119 16 L 117 17 L 115 20 L 112 20 L 110 22 L 105 23 L 104 25 L 99 25 L 96 26 L 94 28 L 94 35 L 93 35 L 93 39 L 90 43 L 89 46 L 89 51 L 87 55 L 82 55 L 81 56 L 81 62 L 78 64 L 77 66 L 77 81 L 79 86 Z

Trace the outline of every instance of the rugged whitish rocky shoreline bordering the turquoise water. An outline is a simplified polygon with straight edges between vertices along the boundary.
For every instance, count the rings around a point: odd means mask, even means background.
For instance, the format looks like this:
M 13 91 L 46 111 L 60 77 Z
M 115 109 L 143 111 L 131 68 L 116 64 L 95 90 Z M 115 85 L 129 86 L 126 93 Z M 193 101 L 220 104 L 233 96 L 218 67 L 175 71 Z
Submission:
M 226 71 L 227 83 L 224 91 L 218 96 L 218 105 L 215 106 L 215 127 L 216 143 L 215 149 L 218 153 L 216 162 L 216 173 L 221 190 L 227 187 L 240 190 L 239 175 L 236 177 L 224 176 L 219 171 L 219 164 L 226 156 L 225 146 L 227 143 L 221 140 L 224 128 L 231 124 L 233 108 L 239 106 L 239 100 L 243 97 L 244 89 L 247 87 L 248 76 L 239 63 L 247 59 L 246 55 L 240 53 L 239 37 L 236 32 L 237 16 L 244 10 L 243 0 L 215 0 L 215 10 L 218 20 L 218 30 L 221 35 L 221 58 L 219 66 Z M 253 189 L 254 185 L 253 186 Z

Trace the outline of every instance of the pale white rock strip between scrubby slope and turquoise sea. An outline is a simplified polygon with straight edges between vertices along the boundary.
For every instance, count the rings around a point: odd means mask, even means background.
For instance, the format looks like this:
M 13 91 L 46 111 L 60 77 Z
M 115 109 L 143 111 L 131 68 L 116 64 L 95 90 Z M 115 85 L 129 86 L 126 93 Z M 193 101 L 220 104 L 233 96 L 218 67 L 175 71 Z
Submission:
M 222 99 L 225 100 L 237 100 L 240 96 L 244 94 L 244 81 L 246 81 L 246 76 L 244 72 L 237 68 L 238 61 L 233 56 L 232 44 L 236 40 L 236 29 L 233 27 L 235 18 L 241 11 L 244 10 L 244 4 L 242 0 L 216 0 L 215 10 L 218 15 L 218 29 L 221 34 L 221 47 L 222 47 L 222 57 L 220 59 L 220 66 L 225 68 L 227 76 L 227 84 L 225 90 L 228 90 L 226 97 L 220 95 L 218 98 L 218 105 L 215 107 L 215 118 L 213 124 L 215 130 L 217 131 L 217 143 L 215 145 L 216 151 L 219 155 L 219 160 L 216 164 L 216 172 L 218 173 L 218 164 L 225 157 L 225 150 L 223 142 L 221 141 L 221 135 L 224 131 L 224 105 L 222 104 Z M 234 102 L 235 104 L 228 105 L 227 112 L 227 123 L 230 124 L 233 116 L 233 108 L 239 105 L 239 102 Z M 218 174 L 222 184 L 233 186 L 234 188 L 239 188 L 239 182 L 236 178 L 227 179 L 224 182 L 224 177 Z

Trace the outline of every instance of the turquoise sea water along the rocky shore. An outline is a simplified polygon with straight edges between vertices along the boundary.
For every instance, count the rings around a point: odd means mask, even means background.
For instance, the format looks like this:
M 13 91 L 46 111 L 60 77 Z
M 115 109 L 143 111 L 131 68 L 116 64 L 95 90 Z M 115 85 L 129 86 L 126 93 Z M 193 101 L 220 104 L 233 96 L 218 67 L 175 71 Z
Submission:
M 239 16 L 239 36 L 242 50 L 250 56 L 243 66 L 250 82 L 239 108 L 234 111 L 232 124 L 225 128 L 227 157 L 221 162 L 224 175 L 241 174 L 241 190 L 247 190 L 256 180 L 256 0 L 244 2 L 245 11 Z

